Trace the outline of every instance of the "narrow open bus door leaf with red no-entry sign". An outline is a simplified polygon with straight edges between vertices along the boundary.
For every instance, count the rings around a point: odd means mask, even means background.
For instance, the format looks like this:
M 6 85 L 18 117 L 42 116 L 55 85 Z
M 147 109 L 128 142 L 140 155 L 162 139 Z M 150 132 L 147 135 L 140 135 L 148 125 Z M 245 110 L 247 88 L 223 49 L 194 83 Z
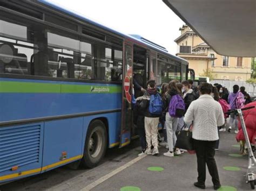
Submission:
M 132 122 L 132 75 L 133 75 L 133 44 L 124 41 L 123 94 L 122 94 L 122 128 L 120 146 L 130 144 Z

